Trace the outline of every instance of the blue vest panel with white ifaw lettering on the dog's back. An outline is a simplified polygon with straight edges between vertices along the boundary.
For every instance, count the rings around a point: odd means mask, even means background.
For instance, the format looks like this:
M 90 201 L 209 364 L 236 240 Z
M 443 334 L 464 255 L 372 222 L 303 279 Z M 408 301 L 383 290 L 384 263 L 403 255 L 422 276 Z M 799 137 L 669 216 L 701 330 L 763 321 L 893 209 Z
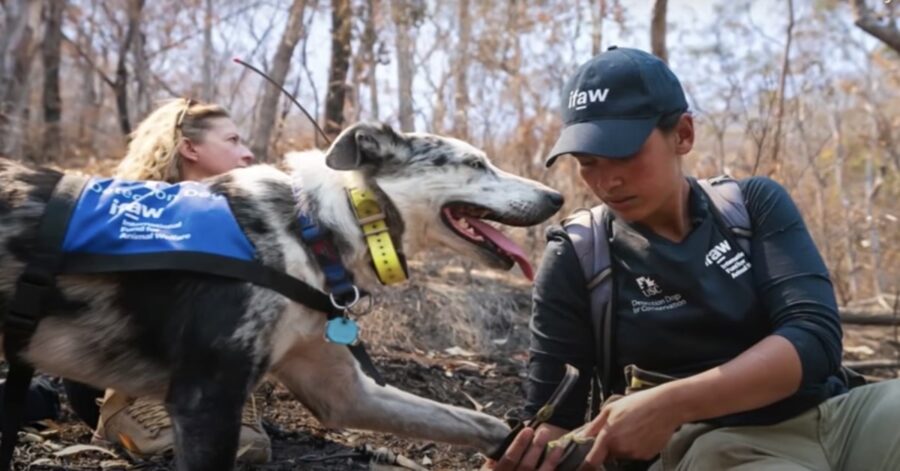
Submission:
M 194 252 L 251 261 L 255 250 L 228 200 L 199 182 L 92 178 L 63 241 L 64 253 Z

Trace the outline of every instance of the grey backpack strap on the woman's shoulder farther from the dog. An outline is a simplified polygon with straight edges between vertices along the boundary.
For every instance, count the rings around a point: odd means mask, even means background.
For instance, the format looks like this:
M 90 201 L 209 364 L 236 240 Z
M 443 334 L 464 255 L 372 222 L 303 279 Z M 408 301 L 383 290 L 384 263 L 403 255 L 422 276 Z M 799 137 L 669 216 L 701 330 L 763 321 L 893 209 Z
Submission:
M 750 221 L 750 213 L 747 212 L 744 194 L 741 192 L 738 182 L 728 175 L 719 175 L 710 179 L 697 180 L 697 184 L 712 203 L 710 209 L 716 222 L 723 230 L 734 235 L 738 245 L 745 253 L 749 254 L 753 224 Z

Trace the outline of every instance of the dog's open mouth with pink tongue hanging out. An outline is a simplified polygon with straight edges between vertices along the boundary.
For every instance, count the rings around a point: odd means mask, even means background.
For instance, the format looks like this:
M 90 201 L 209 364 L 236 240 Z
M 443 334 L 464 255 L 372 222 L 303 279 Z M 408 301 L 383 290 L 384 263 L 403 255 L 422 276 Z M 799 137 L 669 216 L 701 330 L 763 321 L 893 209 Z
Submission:
M 519 264 L 522 273 L 534 280 L 534 270 L 525 251 L 502 232 L 482 219 L 495 219 L 489 209 L 465 203 L 451 203 L 441 209 L 441 219 L 463 240 L 470 242 L 496 257 L 506 269 Z

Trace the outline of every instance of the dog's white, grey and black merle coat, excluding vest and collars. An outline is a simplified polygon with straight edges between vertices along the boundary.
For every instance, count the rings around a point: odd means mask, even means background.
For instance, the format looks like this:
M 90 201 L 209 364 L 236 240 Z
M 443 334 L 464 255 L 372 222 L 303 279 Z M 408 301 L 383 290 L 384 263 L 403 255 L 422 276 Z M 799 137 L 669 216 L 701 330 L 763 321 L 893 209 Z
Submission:
M 509 261 L 456 236 L 441 222 L 442 207 L 476 204 L 501 223 L 531 225 L 562 204 L 558 193 L 499 170 L 464 142 L 398 134 L 384 125 L 356 125 L 324 155 L 293 154 L 287 163 L 288 173 L 255 166 L 210 182 L 228 198 L 260 262 L 320 289 L 324 276 L 299 237 L 298 208 L 314 214 L 334 236 L 357 283 L 378 289 L 344 193 L 348 185 L 375 191 L 400 250 L 439 244 L 498 268 L 509 268 Z M 0 159 L 0 313 L 34 249 L 39 219 L 60 178 L 53 170 Z M 63 275 L 58 286 L 61 297 L 51 303 L 24 358 L 40 370 L 97 387 L 164 398 L 182 470 L 233 468 L 241 408 L 265 374 L 330 427 L 484 452 L 508 433 L 488 415 L 377 386 L 345 347 L 323 339 L 322 313 L 265 288 L 176 271 Z

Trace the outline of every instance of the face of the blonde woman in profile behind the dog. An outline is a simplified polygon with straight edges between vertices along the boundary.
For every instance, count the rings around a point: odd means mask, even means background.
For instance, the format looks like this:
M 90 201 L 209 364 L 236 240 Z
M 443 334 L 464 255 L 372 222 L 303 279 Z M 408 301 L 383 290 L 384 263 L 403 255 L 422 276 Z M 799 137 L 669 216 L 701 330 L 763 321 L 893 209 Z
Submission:
M 210 124 L 200 142 L 182 144 L 185 180 L 202 180 L 253 163 L 253 153 L 241 141 L 232 120 L 215 118 Z

